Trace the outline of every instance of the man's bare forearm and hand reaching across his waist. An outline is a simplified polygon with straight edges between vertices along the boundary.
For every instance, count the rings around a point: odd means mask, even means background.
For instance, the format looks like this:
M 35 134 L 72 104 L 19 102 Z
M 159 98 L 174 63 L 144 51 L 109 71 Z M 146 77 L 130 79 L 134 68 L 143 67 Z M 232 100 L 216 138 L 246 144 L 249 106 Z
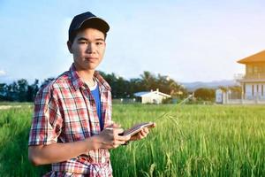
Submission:
M 83 141 L 52 143 L 28 147 L 28 158 L 34 165 L 62 162 L 87 154 L 89 150 L 113 149 L 127 142 L 131 136 L 120 136 L 124 132 L 119 125 L 113 124 L 105 128 L 99 135 L 88 137 Z

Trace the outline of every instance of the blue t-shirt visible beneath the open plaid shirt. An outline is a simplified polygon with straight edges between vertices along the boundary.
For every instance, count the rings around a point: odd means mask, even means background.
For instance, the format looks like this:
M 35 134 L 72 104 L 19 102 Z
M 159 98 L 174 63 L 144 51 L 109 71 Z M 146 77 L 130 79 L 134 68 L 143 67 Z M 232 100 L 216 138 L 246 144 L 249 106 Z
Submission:
M 101 95 L 100 95 L 99 87 L 96 81 L 95 81 L 95 84 L 96 84 L 96 87 L 90 88 L 90 91 L 92 93 L 92 96 L 95 99 L 96 112 L 97 112 L 98 119 L 100 121 L 101 130 L 102 130 L 104 127 L 104 124 L 102 121 Z

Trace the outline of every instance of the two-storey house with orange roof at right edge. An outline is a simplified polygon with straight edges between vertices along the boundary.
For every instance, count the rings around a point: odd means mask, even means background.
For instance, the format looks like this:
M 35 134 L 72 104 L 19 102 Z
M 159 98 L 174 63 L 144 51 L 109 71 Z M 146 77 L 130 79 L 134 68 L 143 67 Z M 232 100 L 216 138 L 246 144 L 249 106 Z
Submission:
M 216 89 L 216 104 L 265 104 L 265 50 L 238 63 L 246 68 L 245 74 L 235 75 L 241 90 Z

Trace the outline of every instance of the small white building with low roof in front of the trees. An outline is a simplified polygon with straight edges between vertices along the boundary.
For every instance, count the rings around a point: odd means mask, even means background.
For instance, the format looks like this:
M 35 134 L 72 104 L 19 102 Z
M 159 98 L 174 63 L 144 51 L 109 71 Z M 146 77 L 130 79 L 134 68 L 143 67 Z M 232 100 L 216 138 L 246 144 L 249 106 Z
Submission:
M 138 92 L 133 95 L 139 97 L 142 104 L 162 104 L 163 99 L 171 97 L 170 95 L 159 92 L 158 89 L 156 91 Z

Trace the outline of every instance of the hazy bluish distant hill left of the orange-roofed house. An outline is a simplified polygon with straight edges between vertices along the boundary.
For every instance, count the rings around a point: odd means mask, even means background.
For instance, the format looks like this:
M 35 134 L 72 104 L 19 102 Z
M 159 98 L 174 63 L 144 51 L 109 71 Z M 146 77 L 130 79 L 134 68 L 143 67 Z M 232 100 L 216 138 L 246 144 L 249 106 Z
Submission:
M 217 89 L 219 86 L 230 87 L 230 86 L 239 85 L 239 83 L 234 80 L 209 81 L 209 82 L 194 81 L 194 82 L 181 82 L 180 84 L 182 84 L 188 91 L 194 91 L 195 89 L 199 88 Z

